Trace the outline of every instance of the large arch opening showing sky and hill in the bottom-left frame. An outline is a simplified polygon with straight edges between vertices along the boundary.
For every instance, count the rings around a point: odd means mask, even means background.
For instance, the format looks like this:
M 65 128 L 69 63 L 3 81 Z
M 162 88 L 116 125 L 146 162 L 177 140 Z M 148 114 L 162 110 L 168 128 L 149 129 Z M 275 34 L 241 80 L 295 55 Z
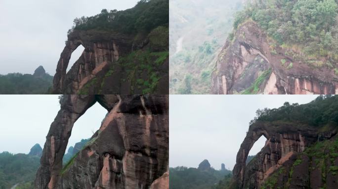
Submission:
M 90 137 L 100 128 L 106 115 L 107 109 L 96 102 L 75 122 L 62 159 L 63 165 L 76 157 L 77 153 L 84 148 L 90 141 Z

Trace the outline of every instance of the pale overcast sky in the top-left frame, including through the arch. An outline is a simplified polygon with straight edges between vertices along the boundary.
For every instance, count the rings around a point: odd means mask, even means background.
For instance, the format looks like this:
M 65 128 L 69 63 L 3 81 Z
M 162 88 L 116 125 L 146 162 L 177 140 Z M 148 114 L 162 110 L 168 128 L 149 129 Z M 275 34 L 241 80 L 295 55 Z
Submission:
M 103 8 L 125 10 L 138 0 L 0 0 L 0 74 L 55 74 L 73 20 Z M 81 55 L 73 54 L 72 65 Z

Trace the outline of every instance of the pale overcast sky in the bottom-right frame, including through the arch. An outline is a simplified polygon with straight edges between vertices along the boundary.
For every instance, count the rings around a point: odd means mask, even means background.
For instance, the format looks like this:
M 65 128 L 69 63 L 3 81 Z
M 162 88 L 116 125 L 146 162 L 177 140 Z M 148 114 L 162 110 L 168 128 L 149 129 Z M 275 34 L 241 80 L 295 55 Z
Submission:
M 198 167 L 204 159 L 220 169 L 233 169 L 236 155 L 258 108 L 284 102 L 310 102 L 316 95 L 170 95 L 169 166 Z M 255 155 L 265 144 L 262 136 Z

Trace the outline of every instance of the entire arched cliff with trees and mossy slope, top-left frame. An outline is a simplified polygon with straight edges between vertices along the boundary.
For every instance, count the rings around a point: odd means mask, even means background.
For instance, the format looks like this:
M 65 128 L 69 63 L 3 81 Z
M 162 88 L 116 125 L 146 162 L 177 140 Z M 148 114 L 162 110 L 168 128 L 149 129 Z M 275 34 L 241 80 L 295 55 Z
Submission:
M 169 2 L 139 1 L 74 20 L 53 80 L 53 94 L 168 94 Z M 67 72 L 72 53 L 84 47 Z

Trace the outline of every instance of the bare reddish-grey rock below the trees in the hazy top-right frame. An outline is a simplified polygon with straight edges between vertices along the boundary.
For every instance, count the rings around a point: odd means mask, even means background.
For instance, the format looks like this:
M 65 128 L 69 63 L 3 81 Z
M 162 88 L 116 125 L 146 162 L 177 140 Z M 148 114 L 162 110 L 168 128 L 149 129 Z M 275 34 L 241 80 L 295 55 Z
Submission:
M 228 38 L 212 72 L 211 94 L 337 94 L 332 68 L 314 68 L 288 49 L 272 47 L 271 39 L 253 21 Z

